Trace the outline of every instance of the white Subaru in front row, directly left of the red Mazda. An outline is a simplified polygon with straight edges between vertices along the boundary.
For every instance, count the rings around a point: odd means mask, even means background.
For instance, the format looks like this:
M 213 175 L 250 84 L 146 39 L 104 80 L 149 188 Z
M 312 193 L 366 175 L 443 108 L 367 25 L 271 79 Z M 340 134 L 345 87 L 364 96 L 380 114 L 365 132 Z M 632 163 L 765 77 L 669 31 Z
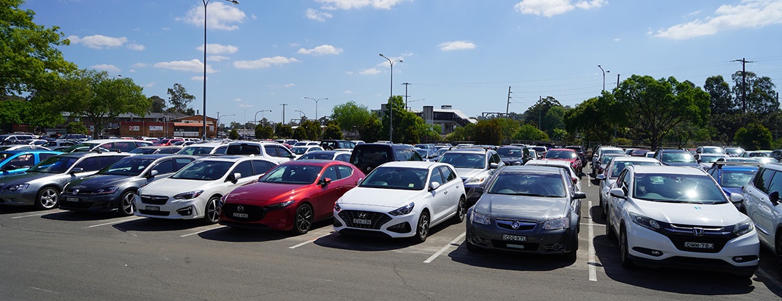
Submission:
M 221 197 L 256 181 L 258 175 L 277 165 L 260 157 L 208 157 L 193 161 L 169 178 L 138 189 L 133 214 L 147 218 L 203 218 L 216 223 Z

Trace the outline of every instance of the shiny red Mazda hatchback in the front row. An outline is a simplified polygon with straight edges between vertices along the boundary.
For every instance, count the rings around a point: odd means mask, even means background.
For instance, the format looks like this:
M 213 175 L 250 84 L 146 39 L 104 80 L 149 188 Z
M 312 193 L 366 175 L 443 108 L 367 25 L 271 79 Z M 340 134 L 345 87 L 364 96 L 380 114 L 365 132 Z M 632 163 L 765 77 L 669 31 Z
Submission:
M 343 161 L 287 161 L 258 182 L 225 195 L 219 222 L 304 234 L 315 221 L 332 218 L 336 200 L 363 177 L 363 172 Z

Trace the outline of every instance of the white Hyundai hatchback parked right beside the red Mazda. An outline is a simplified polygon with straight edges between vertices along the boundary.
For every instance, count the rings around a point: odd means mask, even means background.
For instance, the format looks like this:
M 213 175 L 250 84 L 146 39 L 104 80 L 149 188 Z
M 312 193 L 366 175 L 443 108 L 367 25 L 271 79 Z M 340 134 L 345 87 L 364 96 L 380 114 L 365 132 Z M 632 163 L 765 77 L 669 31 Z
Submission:
M 334 205 L 334 229 L 343 235 L 411 237 L 422 243 L 429 228 L 465 219 L 467 198 L 451 165 L 393 161 L 375 168 Z

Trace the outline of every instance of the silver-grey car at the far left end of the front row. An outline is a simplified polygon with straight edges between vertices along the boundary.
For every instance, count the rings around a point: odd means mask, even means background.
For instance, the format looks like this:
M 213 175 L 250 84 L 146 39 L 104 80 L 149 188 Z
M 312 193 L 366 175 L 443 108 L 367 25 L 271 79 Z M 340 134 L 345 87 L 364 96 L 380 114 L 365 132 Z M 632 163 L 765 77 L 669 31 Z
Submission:
M 52 209 L 68 183 L 130 156 L 120 153 L 68 153 L 38 162 L 27 172 L 0 177 L 0 204 Z

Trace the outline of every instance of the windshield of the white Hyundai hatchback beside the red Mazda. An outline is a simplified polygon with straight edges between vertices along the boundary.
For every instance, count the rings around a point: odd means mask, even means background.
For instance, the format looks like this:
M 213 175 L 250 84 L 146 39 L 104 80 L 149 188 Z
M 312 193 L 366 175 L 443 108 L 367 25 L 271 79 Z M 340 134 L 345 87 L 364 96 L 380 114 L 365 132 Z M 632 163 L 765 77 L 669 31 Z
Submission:
M 424 189 L 429 169 L 407 167 L 378 167 L 361 181 L 359 186 L 384 189 Z

